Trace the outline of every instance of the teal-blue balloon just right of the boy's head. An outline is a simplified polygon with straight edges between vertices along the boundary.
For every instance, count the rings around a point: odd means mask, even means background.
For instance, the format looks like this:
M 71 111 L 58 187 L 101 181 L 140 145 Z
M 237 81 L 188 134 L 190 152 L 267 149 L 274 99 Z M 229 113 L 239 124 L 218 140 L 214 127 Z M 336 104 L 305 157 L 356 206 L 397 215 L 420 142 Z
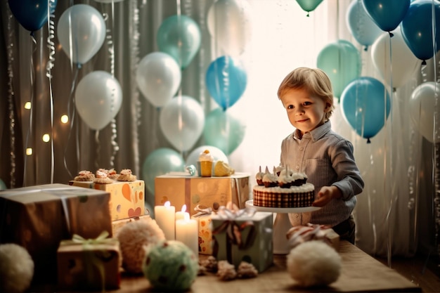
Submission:
M 373 77 L 359 77 L 342 92 L 341 106 L 344 119 L 370 143 L 370 138 L 388 118 L 391 100 L 382 82 Z

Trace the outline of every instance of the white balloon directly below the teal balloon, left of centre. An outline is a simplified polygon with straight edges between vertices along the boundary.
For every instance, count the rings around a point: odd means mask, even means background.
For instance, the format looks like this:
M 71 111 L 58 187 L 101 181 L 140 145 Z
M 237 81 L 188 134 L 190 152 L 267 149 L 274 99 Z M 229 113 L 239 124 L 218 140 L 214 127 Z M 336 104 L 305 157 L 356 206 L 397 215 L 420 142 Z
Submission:
M 149 53 L 136 70 L 136 82 L 143 96 L 160 108 L 171 100 L 181 83 L 179 64 L 163 52 Z

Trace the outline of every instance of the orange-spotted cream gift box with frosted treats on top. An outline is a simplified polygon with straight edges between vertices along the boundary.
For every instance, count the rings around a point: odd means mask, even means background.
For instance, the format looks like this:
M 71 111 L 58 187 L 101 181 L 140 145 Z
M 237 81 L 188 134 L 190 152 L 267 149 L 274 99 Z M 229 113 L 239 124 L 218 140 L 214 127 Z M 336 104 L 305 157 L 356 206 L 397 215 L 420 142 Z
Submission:
M 145 214 L 145 182 L 143 180 L 115 181 L 110 184 L 69 181 L 69 185 L 104 190 L 110 193 L 110 212 L 113 221 Z

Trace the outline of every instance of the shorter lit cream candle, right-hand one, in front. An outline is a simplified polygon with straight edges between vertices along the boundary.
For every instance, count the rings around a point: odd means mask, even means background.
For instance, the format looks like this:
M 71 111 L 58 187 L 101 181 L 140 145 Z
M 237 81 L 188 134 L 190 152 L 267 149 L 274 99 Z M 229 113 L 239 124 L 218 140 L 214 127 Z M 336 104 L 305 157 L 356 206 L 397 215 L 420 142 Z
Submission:
M 176 240 L 183 242 L 195 257 L 199 256 L 199 225 L 198 221 L 190 219 L 190 214 L 184 214 L 184 219 L 176 221 Z

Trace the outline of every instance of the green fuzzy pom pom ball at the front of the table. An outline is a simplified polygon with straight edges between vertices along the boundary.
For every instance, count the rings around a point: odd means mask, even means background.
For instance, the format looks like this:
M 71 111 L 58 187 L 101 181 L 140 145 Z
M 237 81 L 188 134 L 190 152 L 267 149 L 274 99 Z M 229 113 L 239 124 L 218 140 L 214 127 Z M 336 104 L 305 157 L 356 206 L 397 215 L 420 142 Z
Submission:
M 160 292 L 187 291 L 198 275 L 194 252 L 180 241 L 169 240 L 145 249 L 143 275 Z

